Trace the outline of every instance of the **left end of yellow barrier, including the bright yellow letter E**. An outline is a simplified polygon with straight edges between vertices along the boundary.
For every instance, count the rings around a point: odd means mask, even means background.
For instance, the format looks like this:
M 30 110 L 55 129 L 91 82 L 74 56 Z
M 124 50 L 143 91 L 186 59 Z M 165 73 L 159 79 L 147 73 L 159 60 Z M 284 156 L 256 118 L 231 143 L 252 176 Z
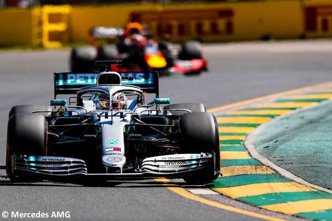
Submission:
M 70 9 L 70 6 L 0 9 L 0 45 L 60 47 L 61 42 L 68 41 Z

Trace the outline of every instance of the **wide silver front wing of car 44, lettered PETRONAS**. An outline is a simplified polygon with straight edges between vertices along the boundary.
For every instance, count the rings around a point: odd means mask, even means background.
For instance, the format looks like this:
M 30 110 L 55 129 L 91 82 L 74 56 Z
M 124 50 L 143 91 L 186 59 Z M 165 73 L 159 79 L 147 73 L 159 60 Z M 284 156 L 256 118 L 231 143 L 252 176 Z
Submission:
M 186 174 L 215 171 L 216 154 L 174 154 L 150 157 L 143 160 L 139 172 L 114 174 L 89 174 L 85 162 L 80 159 L 50 156 L 11 156 L 12 174 L 30 174 L 51 179 L 83 177 L 111 178 L 153 178 L 179 177 Z

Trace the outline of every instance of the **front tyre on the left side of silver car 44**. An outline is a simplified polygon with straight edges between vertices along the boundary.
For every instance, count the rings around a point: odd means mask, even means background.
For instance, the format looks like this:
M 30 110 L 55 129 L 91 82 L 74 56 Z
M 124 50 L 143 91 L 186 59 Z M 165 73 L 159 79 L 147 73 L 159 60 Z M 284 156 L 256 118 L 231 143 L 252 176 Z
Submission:
M 8 120 L 6 173 L 17 180 L 12 170 L 12 155 L 45 156 L 48 124 L 41 114 L 17 113 Z

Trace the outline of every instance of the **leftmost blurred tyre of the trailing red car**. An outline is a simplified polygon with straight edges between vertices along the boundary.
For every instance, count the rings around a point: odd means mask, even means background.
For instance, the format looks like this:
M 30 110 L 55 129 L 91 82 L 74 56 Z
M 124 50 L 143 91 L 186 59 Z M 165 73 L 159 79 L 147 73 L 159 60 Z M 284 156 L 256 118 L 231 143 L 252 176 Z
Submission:
M 93 72 L 97 58 L 96 48 L 91 46 L 74 47 L 70 53 L 70 70 L 72 72 Z

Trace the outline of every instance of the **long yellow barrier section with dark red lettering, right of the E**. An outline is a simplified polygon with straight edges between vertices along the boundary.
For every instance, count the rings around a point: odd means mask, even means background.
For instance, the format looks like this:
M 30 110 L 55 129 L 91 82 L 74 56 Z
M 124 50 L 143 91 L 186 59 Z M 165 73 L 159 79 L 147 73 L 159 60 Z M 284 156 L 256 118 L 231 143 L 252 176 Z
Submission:
M 87 41 L 89 28 L 124 27 L 129 20 L 148 25 L 156 40 L 164 34 L 171 34 L 173 41 L 286 39 L 303 34 L 301 3 L 272 1 L 75 7 L 70 14 L 70 37 Z

